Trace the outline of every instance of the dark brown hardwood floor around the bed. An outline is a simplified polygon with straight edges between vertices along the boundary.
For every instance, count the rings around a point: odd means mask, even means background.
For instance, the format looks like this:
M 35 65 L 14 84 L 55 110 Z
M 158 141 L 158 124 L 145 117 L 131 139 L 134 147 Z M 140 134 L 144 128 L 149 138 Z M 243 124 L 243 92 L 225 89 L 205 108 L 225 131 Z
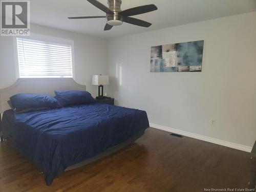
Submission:
M 147 129 L 132 146 L 65 172 L 46 186 L 39 169 L 0 144 L 0 191 L 204 191 L 248 187 L 249 153 Z

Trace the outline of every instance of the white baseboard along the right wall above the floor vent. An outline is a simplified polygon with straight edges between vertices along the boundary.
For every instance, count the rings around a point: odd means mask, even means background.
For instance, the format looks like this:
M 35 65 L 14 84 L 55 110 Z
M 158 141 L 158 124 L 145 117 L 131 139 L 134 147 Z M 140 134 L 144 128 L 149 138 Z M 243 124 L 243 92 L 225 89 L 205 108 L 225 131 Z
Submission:
M 207 142 L 210 142 L 210 143 L 215 143 L 215 144 L 227 146 L 227 147 L 230 147 L 230 148 L 236 148 L 237 150 L 241 150 L 241 151 L 245 151 L 245 152 L 251 152 L 251 150 L 252 150 L 252 147 L 249 147 L 249 146 L 240 145 L 240 144 L 232 143 L 232 142 L 229 142 L 229 141 L 223 141 L 223 140 L 220 140 L 220 139 L 215 139 L 215 138 L 212 138 L 212 137 L 207 137 L 207 136 L 198 135 L 198 134 L 194 134 L 194 133 L 189 133 L 189 132 L 185 132 L 185 131 L 181 131 L 181 130 L 177 130 L 177 129 L 172 129 L 172 128 L 167 127 L 167 126 L 157 125 L 157 124 L 154 124 L 154 123 L 150 123 L 150 126 L 155 128 L 155 129 L 159 129 L 159 130 L 163 130 L 163 131 L 171 132 L 171 133 L 176 133 L 176 134 L 179 134 L 179 135 L 184 135 L 184 136 L 187 136 L 187 137 L 207 141 Z

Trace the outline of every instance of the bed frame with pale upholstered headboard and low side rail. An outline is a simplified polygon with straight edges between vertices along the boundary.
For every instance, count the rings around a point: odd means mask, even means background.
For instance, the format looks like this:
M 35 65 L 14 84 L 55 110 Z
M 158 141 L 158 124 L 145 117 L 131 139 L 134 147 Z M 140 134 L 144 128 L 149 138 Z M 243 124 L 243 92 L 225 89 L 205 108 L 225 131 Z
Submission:
M 78 84 L 74 81 L 73 78 L 24 78 L 24 79 L 18 79 L 12 86 L 0 90 L 0 141 L 7 140 L 8 143 L 10 143 L 11 146 L 15 147 L 15 144 L 12 142 L 11 139 L 3 138 L 1 134 L 1 113 L 4 113 L 6 110 L 10 110 L 10 106 L 8 104 L 8 100 L 10 100 L 10 97 L 18 94 L 18 93 L 35 93 L 35 94 L 49 94 L 51 96 L 54 96 L 54 90 L 80 90 L 80 91 L 86 91 L 86 86 L 82 86 L 81 84 Z M 75 169 L 84 165 L 87 165 L 89 163 L 92 163 L 94 161 L 97 161 L 101 158 L 104 158 L 106 156 L 109 156 L 122 148 L 131 145 L 134 143 L 140 136 L 144 134 L 144 131 L 139 132 L 132 138 L 116 145 L 105 152 L 86 159 L 84 161 L 81 161 L 77 164 L 74 164 L 72 166 L 69 166 L 65 169 L 71 170 Z

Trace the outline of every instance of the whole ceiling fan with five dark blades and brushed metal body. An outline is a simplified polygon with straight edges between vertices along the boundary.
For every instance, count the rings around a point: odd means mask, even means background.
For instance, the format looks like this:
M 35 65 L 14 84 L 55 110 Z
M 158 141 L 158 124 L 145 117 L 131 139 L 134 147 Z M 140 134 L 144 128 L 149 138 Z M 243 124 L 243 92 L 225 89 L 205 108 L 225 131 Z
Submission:
M 87 0 L 95 7 L 104 11 L 106 16 L 81 16 L 81 17 L 68 17 L 70 19 L 81 19 L 81 18 L 106 18 L 106 25 L 104 31 L 111 30 L 113 26 L 121 25 L 123 22 L 141 26 L 141 27 L 150 27 L 152 24 L 133 18 L 130 16 L 139 15 L 151 11 L 157 10 L 157 7 L 154 4 L 144 5 L 139 7 L 134 7 L 131 9 L 121 10 L 121 0 L 108 0 L 109 8 L 101 4 L 96 0 Z

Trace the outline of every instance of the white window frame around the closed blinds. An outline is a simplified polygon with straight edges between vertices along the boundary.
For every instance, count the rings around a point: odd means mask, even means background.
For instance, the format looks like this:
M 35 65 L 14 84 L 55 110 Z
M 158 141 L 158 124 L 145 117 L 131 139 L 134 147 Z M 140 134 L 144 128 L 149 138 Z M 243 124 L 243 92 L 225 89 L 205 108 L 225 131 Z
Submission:
M 31 40 L 52 42 L 53 44 L 63 44 L 63 45 L 71 46 L 72 77 L 20 77 L 20 75 L 19 75 L 19 63 L 18 63 L 17 38 L 26 38 L 26 39 L 31 39 Z M 46 79 L 61 79 L 61 78 L 64 78 L 64 79 L 73 78 L 73 79 L 75 79 L 74 40 L 31 33 L 30 36 L 13 36 L 13 46 L 14 46 L 15 68 L 16 68 L 16 71 L 15 71 L 16 79 L 44 79 L 44 78 L 46 78 Z

